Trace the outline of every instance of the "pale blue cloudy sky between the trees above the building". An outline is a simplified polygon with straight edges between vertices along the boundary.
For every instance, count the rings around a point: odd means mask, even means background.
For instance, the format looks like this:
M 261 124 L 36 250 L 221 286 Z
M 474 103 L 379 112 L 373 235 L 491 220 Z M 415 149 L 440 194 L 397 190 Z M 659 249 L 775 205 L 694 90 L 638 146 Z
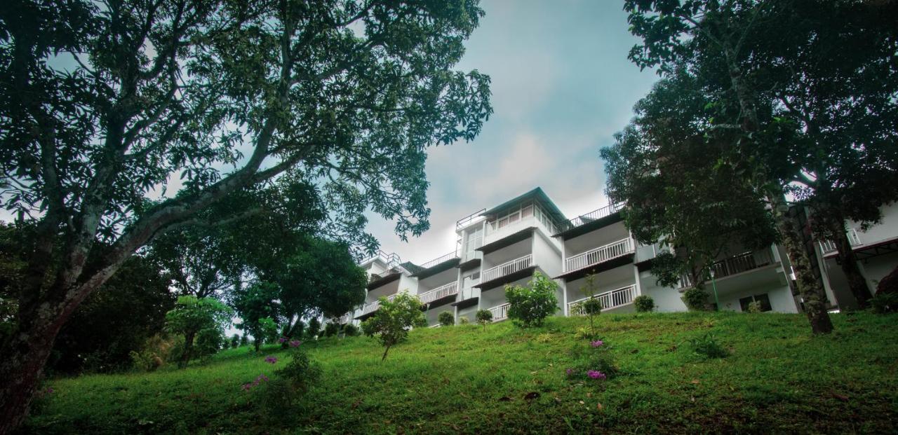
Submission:
M 370 215 L 384 252 L 424 263 L 455 248 L 455 222 L 534 187 L 568 218 L 605 204 L 599 150 L 655 83 L 627 60 L 637 39 L 613 0 L 482 0 L 457 69 L 492 79 L 495 113 L 470 143 L 427 152 L 430 230 L 403 242 Z

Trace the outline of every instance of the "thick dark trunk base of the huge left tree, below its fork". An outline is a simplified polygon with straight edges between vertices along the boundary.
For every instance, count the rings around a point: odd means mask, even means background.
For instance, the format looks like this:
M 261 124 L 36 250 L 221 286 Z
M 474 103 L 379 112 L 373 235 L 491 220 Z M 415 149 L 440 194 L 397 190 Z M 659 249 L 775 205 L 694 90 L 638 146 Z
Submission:
M 20 323 L 0 352 L 0 435 L 12 433 L 28 415 L 44 364 L 65 323 L 59 311 L 42 306 L 36 318 Z

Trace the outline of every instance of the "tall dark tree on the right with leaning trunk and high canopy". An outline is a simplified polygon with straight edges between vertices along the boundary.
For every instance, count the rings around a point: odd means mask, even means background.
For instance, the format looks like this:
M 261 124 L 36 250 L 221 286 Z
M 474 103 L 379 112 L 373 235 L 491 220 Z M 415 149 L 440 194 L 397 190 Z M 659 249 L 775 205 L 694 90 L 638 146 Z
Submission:
M 811 268 L 796 222 L 788 216 L 786 194 L 804 185 L 810 188 L 806 194 L 820 193 L 818 199 L 826 200 L 831 173 L 844 177 L 841 186 L 866 183 L 867 172 L 894 174 L 894 147 L 889 152 L 887 144 L 894 144 L 895 84 L 888 77 L 894 74 L 892 23 L 898 6 L 860 1 L 629 0 L 625 10 L 631 31 L 643 39 L 630 51 L 630 59 L 641 67 L 657 66 L 663 75 L 688 67 L 700 78 L 697 91 L 713 98 L 715 113 L 707 132 L 729 137 L 721 162 L 732 165 L 769 202 L 812 330 L 832 331 L 823 285 Z M 833 55 L 846 47 L 860 54 L 852 53 L 847 60 Z M 833 85 L 845 89 L 834 90 Z M 801 93 L 808 104 L 789 109 L 797 101 L 792 92 Z M 805 115 L 822 115 L 820 120 L 832 119 L 830 126 L 842 128 L 835 128 L 829 137 L 815 135 L 814 126 L 799 119 L 810 108 L 813 112 Z M 859 129 L 874 131 L 859 132 L 843 115 L 867 120 Z M 780 142 L 784 134 L 792 135 L 792 140 Z M 866 170 L 857 170 L 858 162 Z M 878 195 L 870 203 L 876 204 Z

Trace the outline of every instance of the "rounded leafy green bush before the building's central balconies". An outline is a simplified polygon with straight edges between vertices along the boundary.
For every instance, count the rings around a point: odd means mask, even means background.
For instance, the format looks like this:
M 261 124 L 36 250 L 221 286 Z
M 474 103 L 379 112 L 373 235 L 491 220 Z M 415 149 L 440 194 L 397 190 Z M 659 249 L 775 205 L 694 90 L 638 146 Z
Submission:
M 558 283 L 539 272 L 533 273 L 526 287 L 506 285 L 506 300 L 511 304 L 508 318 L 517 326 L 542 326 L 543 320 L 559 309 L 555 296 L 558 288 Z

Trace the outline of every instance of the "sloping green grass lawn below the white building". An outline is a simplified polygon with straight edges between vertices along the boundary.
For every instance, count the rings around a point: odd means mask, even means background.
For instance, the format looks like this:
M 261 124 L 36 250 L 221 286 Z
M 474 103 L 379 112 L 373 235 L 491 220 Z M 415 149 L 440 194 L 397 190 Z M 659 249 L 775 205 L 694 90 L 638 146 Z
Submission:
M 898 316 L 833 316 L 810 335 L 784 314 L 602 315 L 616 378 L 565 378 L 584 318 L 530 330 L 509 322 L 418 329 L 390 351 L 365 337 L 303 344 L 321 364 L 304 404 L 260 405 L 241 385 L 272 376 L 272 346 L 149 374 L 58 379 L 31 433 L 892 432 L 898 421 Z M 731 352 L 705 359 L 690 339 Z M 282 361 L 263 361 L 274 354 Z M 524 399 L 536 392 L 535 399 Z M 601 409 L 599 409 L 601 404 Z

